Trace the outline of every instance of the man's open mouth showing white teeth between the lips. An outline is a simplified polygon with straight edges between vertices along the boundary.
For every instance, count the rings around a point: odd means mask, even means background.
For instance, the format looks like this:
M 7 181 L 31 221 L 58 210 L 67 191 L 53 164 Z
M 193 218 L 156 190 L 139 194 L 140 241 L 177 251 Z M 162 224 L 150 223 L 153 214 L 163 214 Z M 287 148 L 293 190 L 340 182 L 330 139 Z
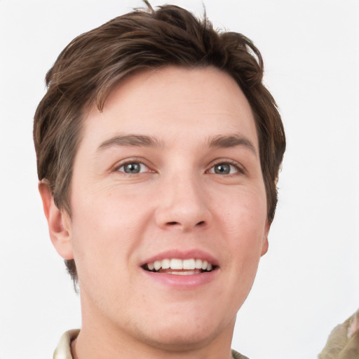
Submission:
M 154 273 L 175 274 L 177 276 L 191 276 L 193 274 L 208 273 L 217 268 L 202 259 L 162 259 L 144 264 L 142 269 Z

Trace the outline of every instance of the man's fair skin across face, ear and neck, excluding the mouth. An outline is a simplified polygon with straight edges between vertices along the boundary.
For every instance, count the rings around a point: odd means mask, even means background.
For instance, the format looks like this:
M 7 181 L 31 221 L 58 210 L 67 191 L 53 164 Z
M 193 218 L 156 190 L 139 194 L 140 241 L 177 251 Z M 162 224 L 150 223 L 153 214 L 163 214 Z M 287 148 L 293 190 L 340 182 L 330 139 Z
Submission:
M 123 145 L 120 135 L 154 144 Z M 39 188 L 53 245 L 79 274 L 74 358 L 231 358 L 269 224 L 255 121 L 228 74 L 165 67 L 121 82 L 102 113 L 84 118 L 72 217 Z M 205 253 L 215 271 L 154 280 L 141 265 L 168 250 Z

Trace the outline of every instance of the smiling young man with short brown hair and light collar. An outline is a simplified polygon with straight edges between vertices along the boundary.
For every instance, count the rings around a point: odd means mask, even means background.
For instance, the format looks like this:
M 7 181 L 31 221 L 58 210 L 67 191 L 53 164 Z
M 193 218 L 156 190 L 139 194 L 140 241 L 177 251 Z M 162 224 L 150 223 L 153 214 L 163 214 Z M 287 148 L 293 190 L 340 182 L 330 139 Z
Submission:
M 54 358 L 245 358 L 236 313 L 285 151 L 262 57 L 177 6 L 83 34 L 34 118 L 50 238 L 81 294 Z

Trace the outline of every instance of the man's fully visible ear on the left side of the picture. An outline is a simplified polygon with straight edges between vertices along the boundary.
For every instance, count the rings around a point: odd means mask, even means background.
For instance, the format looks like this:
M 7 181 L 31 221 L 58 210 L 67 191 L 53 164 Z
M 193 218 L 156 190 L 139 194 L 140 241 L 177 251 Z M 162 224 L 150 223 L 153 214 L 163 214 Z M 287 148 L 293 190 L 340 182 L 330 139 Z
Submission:
M 55 250 L 64 259 L 74 259 L 71 236 L 69 235 L 69 215 L 57 208 L 48 185 L 42 181 L 39 182 L 39 192 L 43 203 L 43 212 L 48 220 L 50 239 Z

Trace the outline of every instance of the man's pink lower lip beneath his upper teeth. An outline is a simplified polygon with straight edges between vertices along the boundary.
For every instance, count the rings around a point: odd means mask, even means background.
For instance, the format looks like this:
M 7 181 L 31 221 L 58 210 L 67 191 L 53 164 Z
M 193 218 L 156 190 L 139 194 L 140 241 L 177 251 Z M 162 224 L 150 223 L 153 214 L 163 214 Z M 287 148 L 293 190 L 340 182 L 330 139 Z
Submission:
M 218 269 L 214 269 L 210 272 L 203 272 L 198 274 L 189 274 L 187 276 L 178 276 L 177 274 L 168 274 L 168 273 L 156 273 L 145 271 L 142 269 L 145 275 L 149 276 L 151 280 L 155 280 L 158 283 L 167 285 L 169 287 L 174 287 L 176 289 L 195 289 L 196 287 L 201 287 L 210 283 L 217 276 Z

